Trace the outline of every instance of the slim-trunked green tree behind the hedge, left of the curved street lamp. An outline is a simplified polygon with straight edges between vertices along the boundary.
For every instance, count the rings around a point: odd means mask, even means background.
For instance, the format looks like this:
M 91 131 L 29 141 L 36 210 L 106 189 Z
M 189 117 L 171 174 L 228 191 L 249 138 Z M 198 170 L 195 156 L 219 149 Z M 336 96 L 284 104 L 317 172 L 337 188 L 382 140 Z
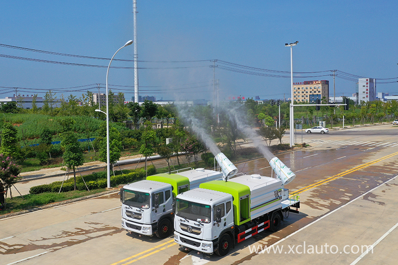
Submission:
M 62 158 L 68 168 L 73 170 L 74 190 L 76 190 L 75 169 L 76 167 L 82 166 L 84 163 L 83 151 L 80 148 L 80 143 L 78 142 L 76 134 L 71 131 L 62 133 L 61 145 L 65 149 Z

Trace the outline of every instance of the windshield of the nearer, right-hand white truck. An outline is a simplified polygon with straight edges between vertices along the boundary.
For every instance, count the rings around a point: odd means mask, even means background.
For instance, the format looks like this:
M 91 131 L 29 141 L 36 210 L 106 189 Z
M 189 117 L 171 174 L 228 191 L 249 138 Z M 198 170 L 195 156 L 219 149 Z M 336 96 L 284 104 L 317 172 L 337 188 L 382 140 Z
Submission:
M 211 207 L 210 205 L 177 199 L 176 215 L 201 223 L 210 223 Z

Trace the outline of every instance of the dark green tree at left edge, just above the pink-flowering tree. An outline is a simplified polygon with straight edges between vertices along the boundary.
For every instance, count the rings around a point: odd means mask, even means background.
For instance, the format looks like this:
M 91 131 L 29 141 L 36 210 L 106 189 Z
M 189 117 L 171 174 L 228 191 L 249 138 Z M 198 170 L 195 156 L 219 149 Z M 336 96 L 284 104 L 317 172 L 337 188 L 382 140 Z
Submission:
M 5 122 L 1 131 L 0 154 L 16 160 L 21 159 L 21 148 L 17 146 L 17 143 L 18 139 L 15 127 L 11 123 Z

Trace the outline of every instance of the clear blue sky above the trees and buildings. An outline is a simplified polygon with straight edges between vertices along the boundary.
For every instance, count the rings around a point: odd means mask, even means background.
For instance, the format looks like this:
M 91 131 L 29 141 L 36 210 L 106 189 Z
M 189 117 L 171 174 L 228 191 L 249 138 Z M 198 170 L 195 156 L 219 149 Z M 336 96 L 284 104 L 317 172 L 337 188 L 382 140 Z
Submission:
M 221 100 L 289 97 L 290 48 L 285 43 L 295 41 L 294 82 L 329 80 L 332 95 L 332 72 L 327 71 L 338 70 L 336 96 L 351 96 L 356 76 L 379 79 L 378 92 L 398 94 L 395 1 L 137 0 L 137 10 L 138 60 L 144 61 L 138 63 L 140 95 L 211 99 L 210 60 L 219 60 L 214 64 Z M 1 45 L 110 58 L 133 39 L 132 0 L 0 1 L 0 14 Z M 4 46 L 0 54 L 0 97 L 12 96 L 11 88 L 18 88 L 20 94 L 43 96 L 48 89 L 58 89 L 58 97 L 61 93 L 80 96 L 87 89 L 98 91 L 92 84 L 103 84 L 100 92 L 105 92 L 108 60 Z M 131 45 L 115 59 L 133 60 L 133 55 Z M 134 64 L 113 61 L 112 66 L 132 68 Z M 134 71 L 110 69 L 108 82 L 114 92 L 124 92 L 130 99 Z

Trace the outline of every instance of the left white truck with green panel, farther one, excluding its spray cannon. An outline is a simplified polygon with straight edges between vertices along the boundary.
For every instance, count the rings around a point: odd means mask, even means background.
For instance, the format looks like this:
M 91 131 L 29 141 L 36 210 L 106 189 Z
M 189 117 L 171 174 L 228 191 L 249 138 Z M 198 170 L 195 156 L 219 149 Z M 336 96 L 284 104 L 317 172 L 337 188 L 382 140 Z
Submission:
M 174 174 L 148 176 L 120 189 L 121 226 L 140 235 L 166 238 L 173 231 L 174 202 L 178 194 L 199 184 L 222 179 L 221 172 L 205 170 L 176 171 Z

